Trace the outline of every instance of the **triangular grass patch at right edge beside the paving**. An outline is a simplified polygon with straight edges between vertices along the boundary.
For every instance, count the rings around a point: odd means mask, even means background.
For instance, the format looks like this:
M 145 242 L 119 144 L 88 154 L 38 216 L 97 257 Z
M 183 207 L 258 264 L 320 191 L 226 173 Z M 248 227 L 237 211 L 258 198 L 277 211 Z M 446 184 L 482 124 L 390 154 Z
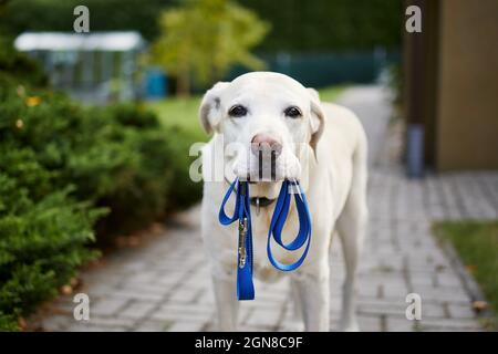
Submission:
M 445 221 L 434 226 L 437 237 L 449 240 L 479 283 L 498 329 L 498 221 Z

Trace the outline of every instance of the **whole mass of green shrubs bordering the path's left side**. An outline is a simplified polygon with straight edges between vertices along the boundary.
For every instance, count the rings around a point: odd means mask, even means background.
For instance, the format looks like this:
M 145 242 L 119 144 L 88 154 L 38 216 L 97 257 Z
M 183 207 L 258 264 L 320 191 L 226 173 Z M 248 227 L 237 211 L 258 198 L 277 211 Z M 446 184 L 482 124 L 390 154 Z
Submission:
M 135 104 L 83 107 L 6 66 L 0 58 L 0 330 L 13 330 L 97 257 L 95 240 L 196 202 L 200 185 L 188 178 L 191 133 Z

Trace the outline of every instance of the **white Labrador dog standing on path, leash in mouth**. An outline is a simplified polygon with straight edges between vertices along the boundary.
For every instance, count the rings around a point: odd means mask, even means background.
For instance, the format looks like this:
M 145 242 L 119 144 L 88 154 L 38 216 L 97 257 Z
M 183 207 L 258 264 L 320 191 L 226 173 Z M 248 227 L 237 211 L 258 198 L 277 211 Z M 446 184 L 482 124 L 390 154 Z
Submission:
M 255 277 L 277 280 L 289 275 L 304 329 L 328 331 L 329 252 L 336 231 L 346 269 L 341 329 L 357 331 L 355 283 L 367 220 L 367 152 L 366 137 L 356 116 L 339 105 L 321 103 L 314 90 L 271 72 L 248 73 L 232 82 L 217 83 L 204 96 L 199 114 L 204 128 L 214 133 L 203 149 L 201 223 L 219 330 L 234 331 L 237 323 L 237 226 L 221 226 L 218 210 L 229 181 L 238 176 L 249 178 L 251 204 L 260 205 L 251 207 Z M 272 164 L 261 164 L 257 154 L 261 146 L 270 146 L 276 152 Z M 270 178 L 262 176 L 268 171 L 264 166 L 273 170 Z M 305 190 L 313 230 L 307 259 L 290 273 L 273 269 L 266 251 L 272 201 L 284 178 L 298 178 Z M 284 241 L 293 239 L 299 228 L 294 209 L 292 206 L 283 229 Z M 232 211 L 231 200 L 227 212 Z M 274 248 L 281 262 L 295 261 L 299 253 Z

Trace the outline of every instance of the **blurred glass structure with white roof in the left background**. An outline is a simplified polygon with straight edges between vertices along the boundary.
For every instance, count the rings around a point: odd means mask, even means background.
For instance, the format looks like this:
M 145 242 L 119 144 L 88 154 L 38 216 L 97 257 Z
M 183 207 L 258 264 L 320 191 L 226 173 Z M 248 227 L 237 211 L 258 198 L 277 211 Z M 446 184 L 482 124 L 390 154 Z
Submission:
M 136 97 L 138 32 L 25 32 L 15 49 L 41 62 L 52 85 L 93 103 Z

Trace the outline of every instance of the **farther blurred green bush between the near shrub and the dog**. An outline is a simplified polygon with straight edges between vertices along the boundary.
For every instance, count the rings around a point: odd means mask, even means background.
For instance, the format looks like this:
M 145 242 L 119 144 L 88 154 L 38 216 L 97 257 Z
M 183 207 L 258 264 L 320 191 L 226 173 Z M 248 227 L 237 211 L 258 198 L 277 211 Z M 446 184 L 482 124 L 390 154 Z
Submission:
M 58 188 L 74 184 L 79 199 L 110 207 L 98 222 L 102 236 L 134 231 L 199 199 L 200 186 L 188 177 L 188 132 L 163 128 L 136 105 L 85 110 L 55 93 L 30 94 L 4 97 L 0 126 L 11 128 L 3 144 L 31 147 Z

